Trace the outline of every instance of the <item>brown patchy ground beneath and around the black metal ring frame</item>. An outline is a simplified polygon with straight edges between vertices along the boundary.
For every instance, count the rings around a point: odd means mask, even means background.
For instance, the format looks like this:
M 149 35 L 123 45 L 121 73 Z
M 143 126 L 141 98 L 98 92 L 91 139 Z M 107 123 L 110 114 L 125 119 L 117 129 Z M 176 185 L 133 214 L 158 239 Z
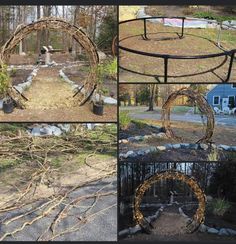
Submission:
M 169 55 L 191 56 L 222 52 L 214 43 L 204 39 L 209 38 L 215 41 L 217 36 L 215 29 L 186 29 L 186 35 L 183 39 L 179 39 L 176 34 L 176 32 L 180 32 L 179 28 L 164 27 L 161 24 L 147 22 L 147 31 L 148 33 L 158 33 L 148 34 L 150 40 L 147 41 L 140 36 L 140 34 L 143 34 L 142 21 L 121 24 L 120 45 L 134 50 Z M 225 37 L 222 38 L 222 45 L 228 50 L 233 49 L 235 47 L 235 32 L 223 32 Z M 147 57 L 120 50 L 119 62 L 121 67 L 147 75 L 154 75 L 159 82 L 164 81 L 164 60 L 162 58 Z M 201 60 L 170 59 L 168 62 L 168 75 L 170 76 L 168 82 L 222 82 L 227 77 L 228 67 L 229 58 L 224 56 Z M 213 71 L 209 71 L 210 69 L 213 69 Z M 236 80 L 235 64 L 233 64 L 230 80 Z M 120 69 L 120 82 L 151 81 L 155 82 L 157 80 L 153 77 L 142 76 Z

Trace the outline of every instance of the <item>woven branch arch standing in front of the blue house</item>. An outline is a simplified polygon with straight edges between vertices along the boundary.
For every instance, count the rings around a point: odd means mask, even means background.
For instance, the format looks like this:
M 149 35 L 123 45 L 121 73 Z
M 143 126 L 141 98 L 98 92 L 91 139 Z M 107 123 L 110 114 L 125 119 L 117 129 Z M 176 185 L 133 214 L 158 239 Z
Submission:
M 196 104 L 202 115 L 205 115 L 207 118 L 205 135 L 200 138 L 196 143 L 211 142 L 215 126 L 214 112 L 204 96 L 186 87 L 173 92 L 162 106 L 161 120 L 162 126 L 166 131 L 166 135 L 176 139 L 181 139 L 180 137 L 174 135 L 174 132 L 172 131 L 170 125 L 171 106 L 173 105 L 175 99 L 179 96 L 187 96 L 188 98 L 190 98 Z

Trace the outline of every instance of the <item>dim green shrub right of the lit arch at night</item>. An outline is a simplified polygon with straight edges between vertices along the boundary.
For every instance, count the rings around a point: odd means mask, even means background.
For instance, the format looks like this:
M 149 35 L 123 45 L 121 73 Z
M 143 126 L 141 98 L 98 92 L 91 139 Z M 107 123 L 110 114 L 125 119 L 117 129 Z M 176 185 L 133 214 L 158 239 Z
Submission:
M 209 204 L 208 204 L 208 210 L 216 215 L 222 217 L 231 207 L 231 204 L 221 198 L 216 198 L 213 199 Z

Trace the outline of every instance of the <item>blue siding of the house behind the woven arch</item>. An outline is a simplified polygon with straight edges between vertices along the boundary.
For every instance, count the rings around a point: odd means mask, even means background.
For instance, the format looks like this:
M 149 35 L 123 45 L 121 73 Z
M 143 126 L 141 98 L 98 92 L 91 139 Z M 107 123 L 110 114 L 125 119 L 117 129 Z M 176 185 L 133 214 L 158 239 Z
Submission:
M 220 105 L 213 105 L 213 97 L 215 96 L 220 96 Z M 207 93 L 206 99 L 212 107 L 221 109 L 222 99 L 228 98 L 229 96 L 234 96 L 234 107 L 236 107 L 236 88 L 232 88 L 232 84 L 220 84 Z

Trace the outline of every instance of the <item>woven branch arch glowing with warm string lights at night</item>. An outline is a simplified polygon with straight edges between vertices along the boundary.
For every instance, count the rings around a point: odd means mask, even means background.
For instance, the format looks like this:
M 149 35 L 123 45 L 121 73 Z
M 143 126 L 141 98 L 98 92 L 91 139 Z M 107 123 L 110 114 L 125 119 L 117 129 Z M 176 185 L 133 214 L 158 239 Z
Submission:
M 204 222 L 205 219 L 205 205 L 206 205 L 206 197 L 197 183 L 197 181 L 188 175 L 185 175 L 178 171 L 163 171 L 160 173 L 157 173 L 147 180 L 145 180 L 142 184 L 140 184 L 135 192 L 135 198 L 134 198 L 134 213 L 133 217 L 137 224 L 139 224 L 145 231 L 150 232 L 150 224 L 143 216 L 142 212 L 140 211 L 140 205 L 142 202 L 142 198 L 144 196 L 144 193 L 151 187 L 152 184 L 155 182 L 161 181 L 161 180 L 179 180 L 186 183 L 190 189 L 194 192 L 197 200 L 198 200 L 198 209 L 196 210 L 194 216 L 188 223 L 186 224 L 186 231 L 188 233 L 192 233 L 196 231 L 201 223 Z

